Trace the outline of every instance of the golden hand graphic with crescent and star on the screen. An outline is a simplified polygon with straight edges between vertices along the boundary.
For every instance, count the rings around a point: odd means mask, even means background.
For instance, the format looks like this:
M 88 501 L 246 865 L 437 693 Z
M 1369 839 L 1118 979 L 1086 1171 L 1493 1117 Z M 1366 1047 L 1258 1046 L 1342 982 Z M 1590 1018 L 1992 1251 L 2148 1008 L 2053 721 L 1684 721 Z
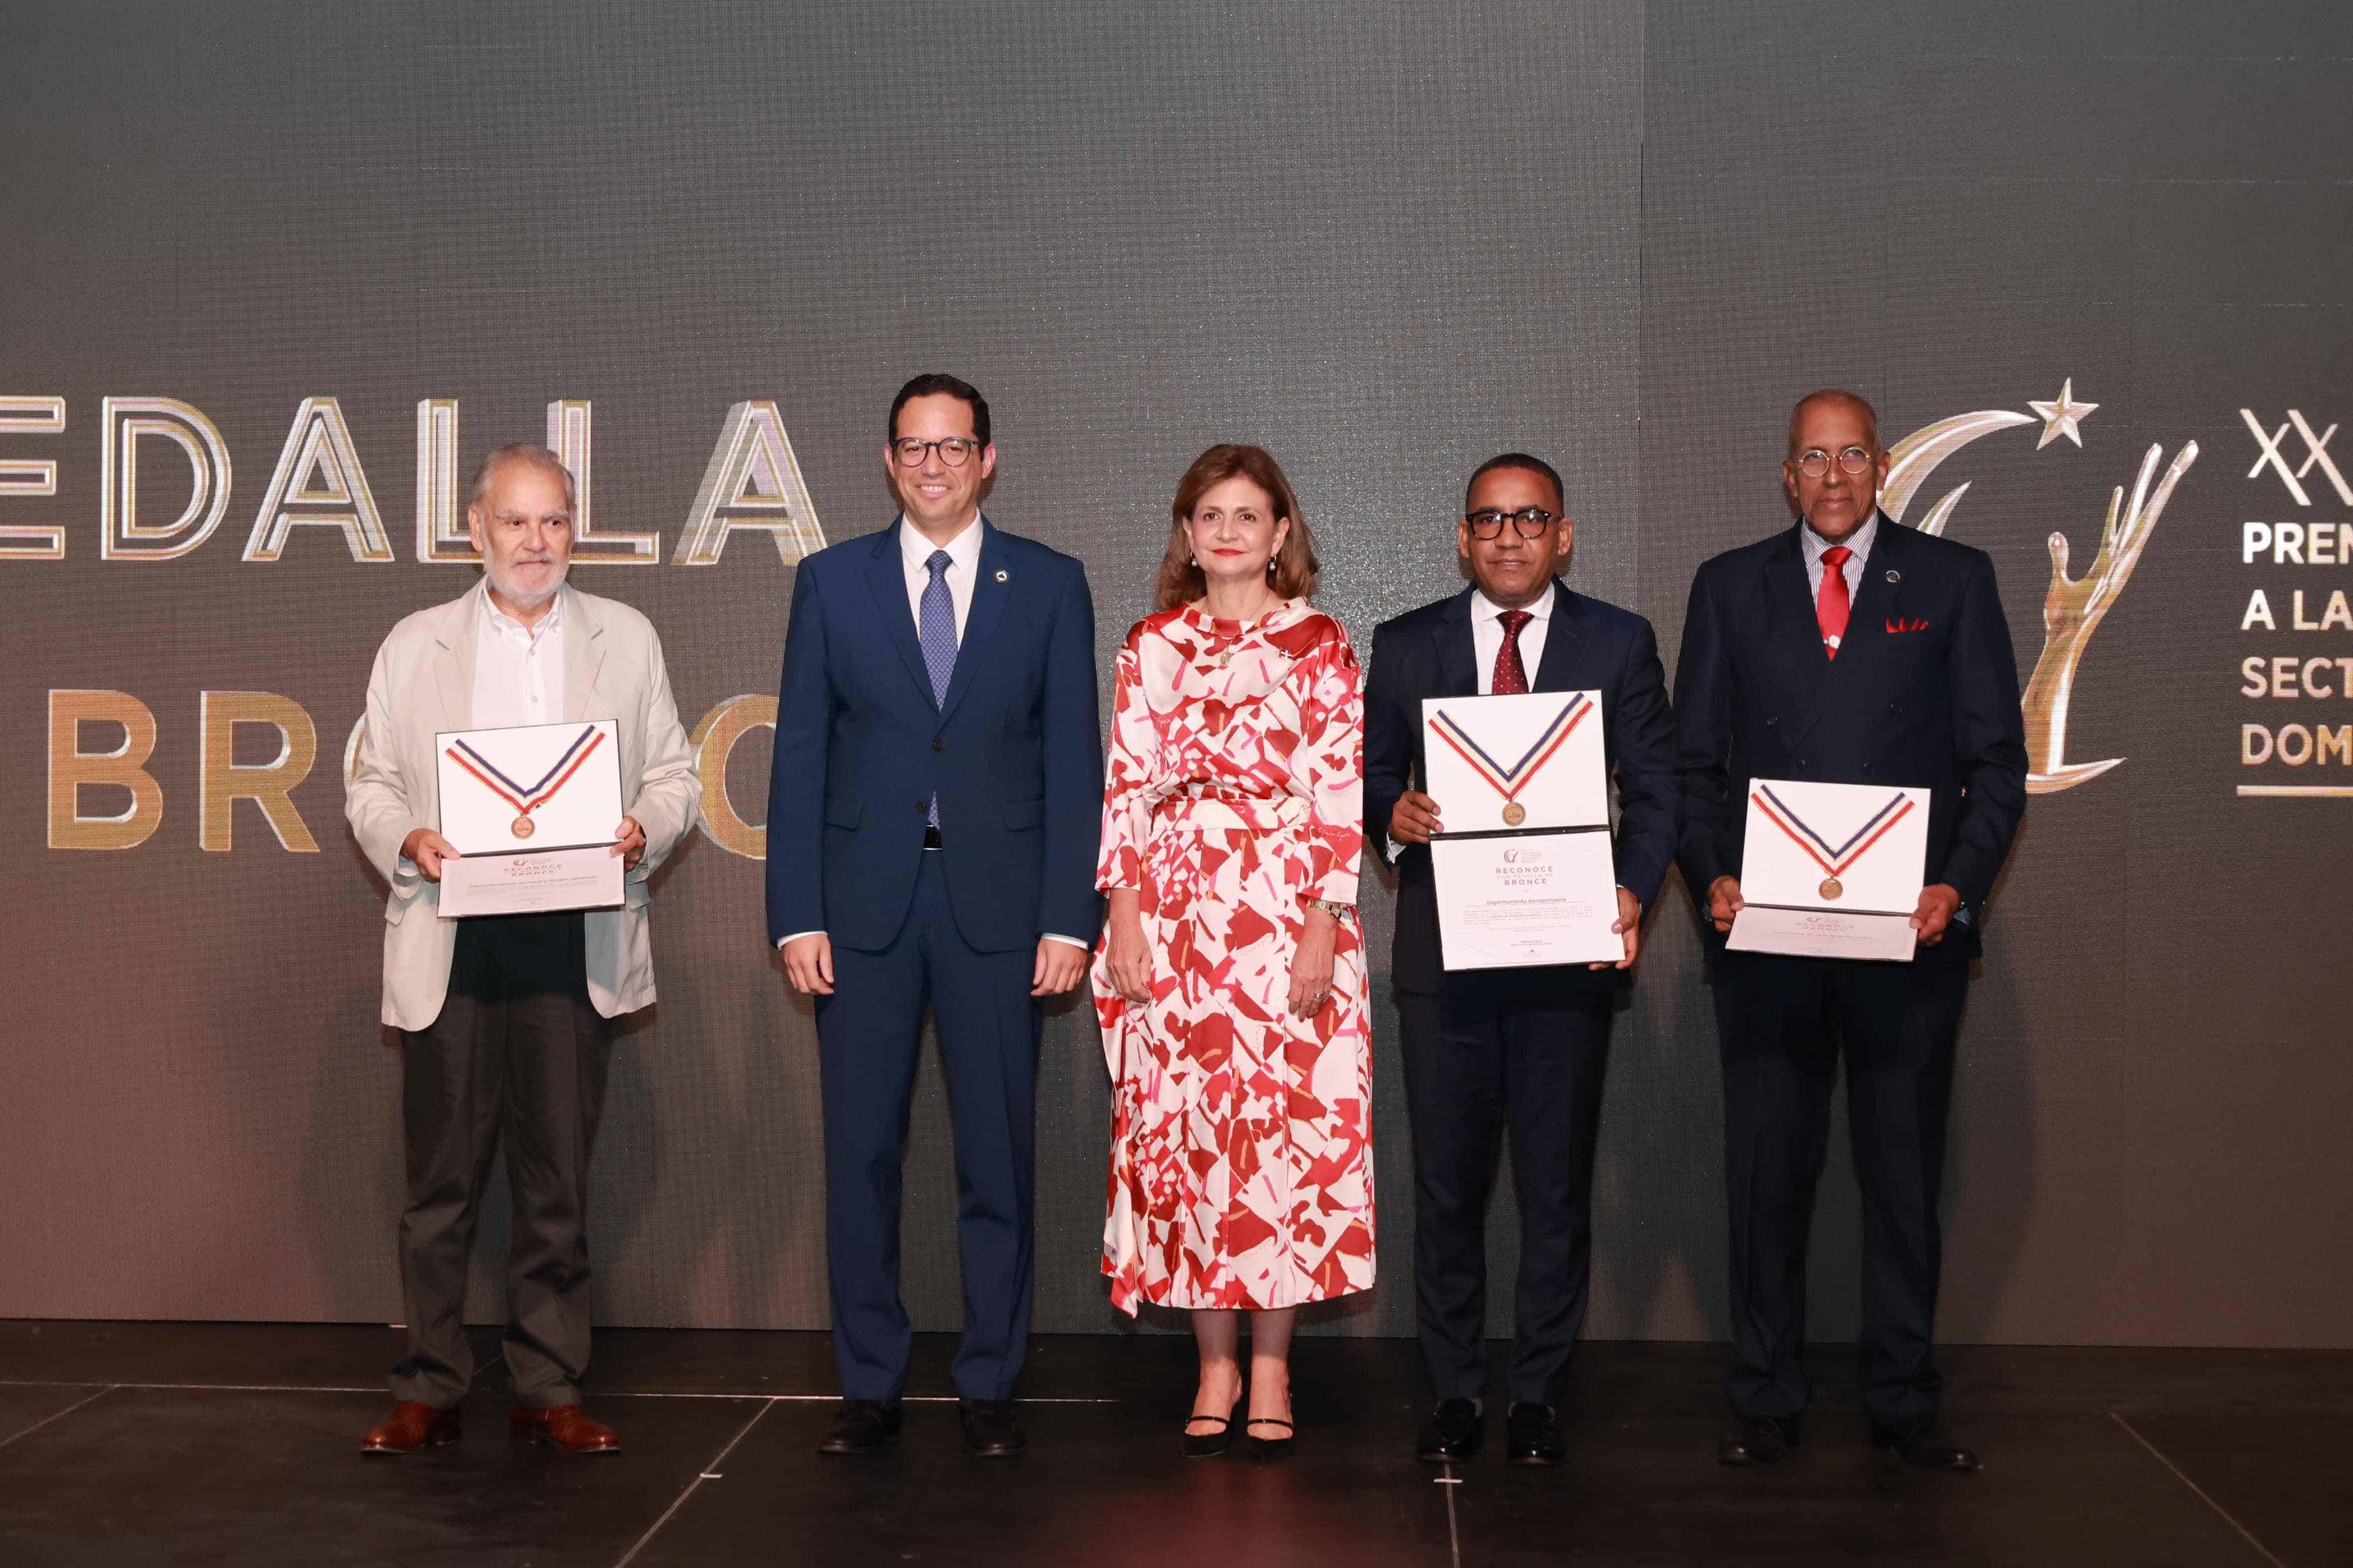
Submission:
M 1880 487 L 1880 510 L 1904 522 L 1904 508 L 1927 484 L 1927 477 L 1937 473 L 1937 465 L 1995 430 L 2040 421 L 2042 440 L 2035 442 L 2035 451 L 2059 437 L 2082 447 L 2082 421 L 2099 404 L 2075 402 L 2075 381 L 2068 378 L 2059 397 L 2028 402 L 2026 407 L 2033 414 L 1981 409 L 1977 414 L 1939 418 L 1925 430 L 1906 435 L 1889 451 L 1887 484 Z M 2165 477 L 2151 489 L 2148 482 L 2158 473 L 2162 456 L 2165 447 L 2151 447 L 2148 456 L 2141 458 L 2141 473 L 2132 484 L 2129 503 L 2125 501 L 2122 484 L 2111 491 L 2099 555 L 2092 557 L 2092 569 L 2080 578 L 2071 578 L 2066 571 L 2066 534 L 2054 531 L 2047 541 L 2052 552 L 2052 585 L 2042 595 L 2042 656 L 2035 661 L 2033 675 L 2026 677 L 2026 698 L 2021 701 L 2026 710 L 2026 790 L 2031 795 L 2073 790 L 2122 762 L 2122 757 L 2108 757 L 2106 762 L 2066 759 L 2068 693 L 2075 684 L 2075 665 L 2082 663 L 2082 651 L 2092 642 L 2092 632 L 2099 630 L 2101 618 L 2115 607 L 2115 599 L 2125 592 L 2125 583 L 2132 581 L 2132 569 L 2139 564 L 2141 550 L 2148 548 L 2151 534 L 2158 531 L 2158 517 L 2165 515 L 2165 503 L 2172 501 L 2174 484 L 2198 461 L 2198 442 L 2186 442 L 2167 465 Z M 1967 484 L 1960 484 L 1937 501 L 1927 510 L 1927 517 L 1920 520 L 1920 531 L 1944 534 L 1944 524 L 1953 520 L 1953 508 L 1960 505 L 1967 489 Z

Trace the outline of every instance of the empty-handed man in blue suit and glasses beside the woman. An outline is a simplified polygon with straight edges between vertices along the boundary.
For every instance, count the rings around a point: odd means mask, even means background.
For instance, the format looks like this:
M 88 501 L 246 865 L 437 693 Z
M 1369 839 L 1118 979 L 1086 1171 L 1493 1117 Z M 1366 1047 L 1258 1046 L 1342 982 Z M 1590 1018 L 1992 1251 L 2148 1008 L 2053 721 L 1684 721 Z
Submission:
M 899 1434 L 899 1161 L 922 1009 L 955 1121 L 965 1448 L 1024 1448 L 1040 999 L 1087 973 L 1104 736 L 1094 602 L 1068 555 L 981 515 L 988 402 L 892 400 L 901 512 L 800 562 L 767 792 L 767 931 L 816 997 L 826 1262 L 842 1408 L 824 1453 Z

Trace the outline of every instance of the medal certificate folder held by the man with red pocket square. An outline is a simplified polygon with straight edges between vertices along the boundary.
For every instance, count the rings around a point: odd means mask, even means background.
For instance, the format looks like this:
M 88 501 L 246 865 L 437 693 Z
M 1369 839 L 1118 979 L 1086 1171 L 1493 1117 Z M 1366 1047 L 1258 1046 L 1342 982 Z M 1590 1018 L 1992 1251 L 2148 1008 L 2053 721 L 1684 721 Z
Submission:
M 1729 947 L 1802 957 L 1913 957 L 1929 792 L 1908 785 L 1748 780 L 1741 900 Z

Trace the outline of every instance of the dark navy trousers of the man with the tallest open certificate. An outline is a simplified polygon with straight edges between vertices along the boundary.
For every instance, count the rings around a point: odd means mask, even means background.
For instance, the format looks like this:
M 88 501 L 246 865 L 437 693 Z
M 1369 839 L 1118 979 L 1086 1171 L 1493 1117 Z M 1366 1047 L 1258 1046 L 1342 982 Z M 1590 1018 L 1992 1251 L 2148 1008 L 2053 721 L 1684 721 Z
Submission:
M 1414 1324 L 1438 1399 L 1487 1392 L 1487 1197 L 1511 1128 L 1520 1201 L 1511 1401 L 1555 1403 L 1593 1272 L 1609 997 L 1515 976 L 1398 992 L 1414 1128 Z

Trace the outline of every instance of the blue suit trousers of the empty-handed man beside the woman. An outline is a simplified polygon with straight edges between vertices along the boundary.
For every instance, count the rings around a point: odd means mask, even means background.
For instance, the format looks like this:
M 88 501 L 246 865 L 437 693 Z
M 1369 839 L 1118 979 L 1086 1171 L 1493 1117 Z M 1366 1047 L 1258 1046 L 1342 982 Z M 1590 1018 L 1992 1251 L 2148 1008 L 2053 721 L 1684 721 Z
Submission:
M 899 1166 L 922 1011 L 939 1023 L 955 1124 L 955 1241 L 965 1340 L 955 1389 L 1012 1399 L 1028 1349 L 1035 1253 L 1038 950 L 974 952 L 948 912 L 939 853 L 889 947 L 833 947 L 816 999 L 826 1103 L 826 1262 L 842 1399 L 899 1399 L 908 1319 L 899 1300 Z

